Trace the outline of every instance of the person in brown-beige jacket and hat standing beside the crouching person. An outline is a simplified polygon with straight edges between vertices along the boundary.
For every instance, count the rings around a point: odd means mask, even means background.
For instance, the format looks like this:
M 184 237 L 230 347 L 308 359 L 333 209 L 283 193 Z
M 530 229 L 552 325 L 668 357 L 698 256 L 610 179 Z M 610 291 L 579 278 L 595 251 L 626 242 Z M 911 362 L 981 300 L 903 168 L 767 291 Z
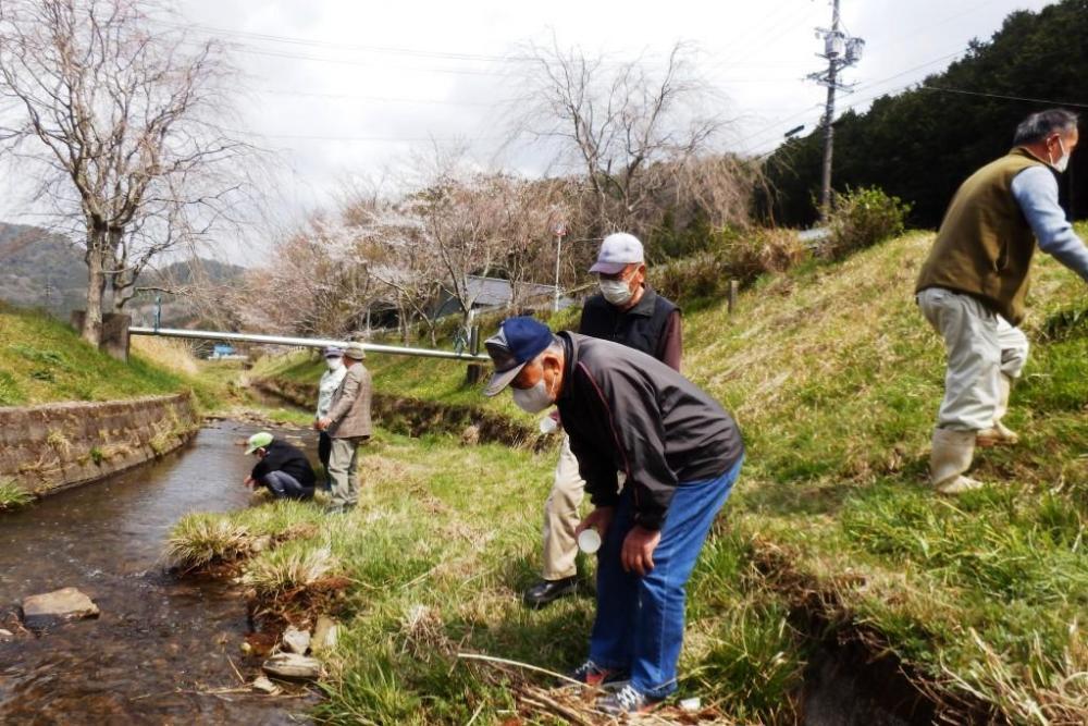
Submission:
M 330 514 L 341 514 L 359 501 L 359 446 L 370 439 L 370 371 L 363 365 L 367 357 L 362 344 L 351 343 L 344 350 L 347 373 L 333 394 L 332 407 L 318 428 L 332 439 L 329 475 L 333 480 Z

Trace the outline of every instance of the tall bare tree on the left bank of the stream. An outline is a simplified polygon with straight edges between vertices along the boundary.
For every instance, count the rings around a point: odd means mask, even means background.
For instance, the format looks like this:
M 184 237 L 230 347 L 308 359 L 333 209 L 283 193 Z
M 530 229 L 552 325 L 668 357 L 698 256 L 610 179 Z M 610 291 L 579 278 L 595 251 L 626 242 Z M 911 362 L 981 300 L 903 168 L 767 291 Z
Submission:
M 86 234 L 83 336 L 97 344 L 152 259 L 230 218 L 252 151 L 218 125 L 219 47 L 145 0 L 0 0 L 0 153 Z M 163 27 L 162 30 L 152 28 Z

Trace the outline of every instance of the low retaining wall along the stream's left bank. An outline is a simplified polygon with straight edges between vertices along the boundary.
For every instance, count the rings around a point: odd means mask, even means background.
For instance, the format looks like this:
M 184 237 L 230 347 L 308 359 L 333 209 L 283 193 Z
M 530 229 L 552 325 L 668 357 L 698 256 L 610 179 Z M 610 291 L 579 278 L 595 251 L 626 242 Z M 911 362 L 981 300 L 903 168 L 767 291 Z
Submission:
M 161 456 L 198 428 L 187 393 L 0 407 L 0 480 L 48 494 Z

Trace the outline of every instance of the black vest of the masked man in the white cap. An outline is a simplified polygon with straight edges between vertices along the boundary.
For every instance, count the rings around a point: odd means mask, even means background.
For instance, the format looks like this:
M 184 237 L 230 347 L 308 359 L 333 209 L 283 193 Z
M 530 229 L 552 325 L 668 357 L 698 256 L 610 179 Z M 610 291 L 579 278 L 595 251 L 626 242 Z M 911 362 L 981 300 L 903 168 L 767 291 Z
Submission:
M 662 359 L 665 328 L 677 306 L 646 285 L 642 299 L 629 310 L 620 310 L 594 295 L 582 306 L 582 322 L 578 332 L 626 345 Z

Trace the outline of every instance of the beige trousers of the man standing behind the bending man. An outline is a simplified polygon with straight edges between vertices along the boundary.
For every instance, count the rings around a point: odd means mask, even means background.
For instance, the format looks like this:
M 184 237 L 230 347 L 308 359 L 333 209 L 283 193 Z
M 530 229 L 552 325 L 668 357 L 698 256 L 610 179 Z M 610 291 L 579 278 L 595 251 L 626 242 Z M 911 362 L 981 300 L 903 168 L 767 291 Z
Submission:
M 578 459 L 570 451 L 570 436 L 562 434 L 559 462 L 555 466 L 552 493 L 544 503 L 544 579 L 561 580 L 578 574 L 574 529 L 581 521 L 578 508 L 585 495 L 585 482 L 578 472 Z

